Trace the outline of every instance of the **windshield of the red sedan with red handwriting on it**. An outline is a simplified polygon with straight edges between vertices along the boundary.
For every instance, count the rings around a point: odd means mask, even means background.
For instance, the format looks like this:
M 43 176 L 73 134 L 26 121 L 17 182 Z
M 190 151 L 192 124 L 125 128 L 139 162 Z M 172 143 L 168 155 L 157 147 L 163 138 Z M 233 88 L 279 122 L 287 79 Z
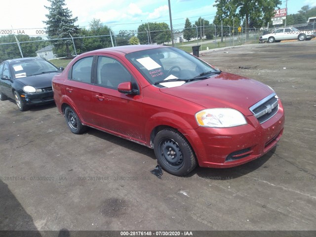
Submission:
M 173 47 L 132 52 L 126 54 L 126 58 L 151 84 L 166 87 L 220 73 L 202 60 Z

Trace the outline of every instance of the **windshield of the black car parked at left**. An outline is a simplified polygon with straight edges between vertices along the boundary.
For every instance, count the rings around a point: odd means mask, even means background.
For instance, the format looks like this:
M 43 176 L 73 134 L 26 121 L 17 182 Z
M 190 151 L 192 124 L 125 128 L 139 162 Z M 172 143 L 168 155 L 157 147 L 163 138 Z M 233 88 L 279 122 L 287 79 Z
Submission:
M 58 69 L 45 60 L 30 60 L 17 62 L 12 65 L 15 78 L 25 78 L 51 72 L 58 72 Z

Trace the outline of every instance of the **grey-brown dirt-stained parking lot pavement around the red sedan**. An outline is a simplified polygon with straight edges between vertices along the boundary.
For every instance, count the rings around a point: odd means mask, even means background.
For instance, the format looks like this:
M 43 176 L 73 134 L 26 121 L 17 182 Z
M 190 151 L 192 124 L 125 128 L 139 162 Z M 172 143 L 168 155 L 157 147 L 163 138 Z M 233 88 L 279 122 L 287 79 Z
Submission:
M 0 230 L 316 230 L 316 40 L 200 58 L 276 91 L 286 114 L 276 149 L 158 179 L 147 147 L 95 129 L 75 135 L 54 104 L 20 112 L 0 101 Z

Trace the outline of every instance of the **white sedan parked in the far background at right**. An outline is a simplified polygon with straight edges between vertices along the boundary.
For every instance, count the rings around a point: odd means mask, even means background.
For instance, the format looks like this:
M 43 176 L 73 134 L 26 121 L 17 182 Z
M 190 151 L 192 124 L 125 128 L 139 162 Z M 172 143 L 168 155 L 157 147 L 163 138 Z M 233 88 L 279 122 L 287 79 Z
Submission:
M 281 28 L 277 29 L 271 34 L 260 36 L 259 41 L 268 43 L 280 42 L 281 40 L 312 40 L 315 38 L 313 30 L 300 31 L 296 28 Z

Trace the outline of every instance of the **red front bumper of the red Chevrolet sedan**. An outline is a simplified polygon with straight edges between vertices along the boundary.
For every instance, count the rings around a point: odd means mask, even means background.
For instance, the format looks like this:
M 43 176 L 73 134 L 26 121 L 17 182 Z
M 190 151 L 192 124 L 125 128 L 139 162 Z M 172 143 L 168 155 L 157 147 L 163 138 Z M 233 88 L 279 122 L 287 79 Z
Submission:
M 260 124 L 254 116 L 248 124 L 231 128 L 180 129 L 192 145 L 199 166 L 228 168 L 237 166 L 269 152 L 280 139 L 284 127 L 284 112 L 279 102 L 275 116 Z

